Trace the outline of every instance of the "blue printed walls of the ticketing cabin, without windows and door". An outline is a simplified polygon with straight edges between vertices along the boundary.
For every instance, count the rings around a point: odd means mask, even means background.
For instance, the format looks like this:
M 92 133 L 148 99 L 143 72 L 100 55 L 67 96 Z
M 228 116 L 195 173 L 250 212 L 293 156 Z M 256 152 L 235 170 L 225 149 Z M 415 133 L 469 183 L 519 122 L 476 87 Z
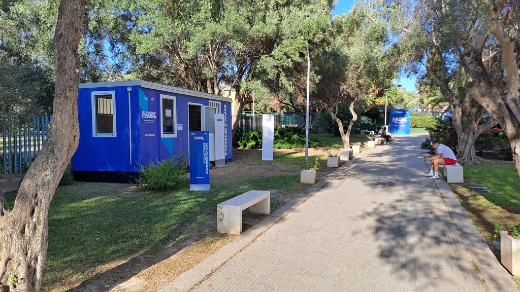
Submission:
M 209 100 L 140 86 L 131 87 L 132 153 L 129 146 L 127 86 L 79 90 L 80 144 L 72 157 L 73 170 L 138 172 L 140 168 L 138 164 L 162 161 L 173 155 L 184 157 L 189 161 L 188 102 L 208 105 Z M 115 91 L 117 137 L 93 137 L 91 94 L 93 91 L 108 90 Z M 161 138 L 161 94 L 176 97 L 177 124 L 183 125 L 182 130 L 177 130 L 176 138 Z M 230 160 L 232 159 L 231 104 L 222 102 L 221 110 L 228 116 L 226 159 Z

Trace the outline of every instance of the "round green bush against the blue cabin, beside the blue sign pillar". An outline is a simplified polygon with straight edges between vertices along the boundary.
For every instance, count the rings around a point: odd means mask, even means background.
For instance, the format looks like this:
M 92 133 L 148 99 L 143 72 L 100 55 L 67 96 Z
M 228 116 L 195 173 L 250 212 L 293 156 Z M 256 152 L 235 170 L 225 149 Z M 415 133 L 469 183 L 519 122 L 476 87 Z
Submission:
M 150 161 L 140 165 L 139 179 L 136 184 L 150 190 L 173 190 L 188 184 L 188 166 L 183 158 L 172 157 L 167 160 Z

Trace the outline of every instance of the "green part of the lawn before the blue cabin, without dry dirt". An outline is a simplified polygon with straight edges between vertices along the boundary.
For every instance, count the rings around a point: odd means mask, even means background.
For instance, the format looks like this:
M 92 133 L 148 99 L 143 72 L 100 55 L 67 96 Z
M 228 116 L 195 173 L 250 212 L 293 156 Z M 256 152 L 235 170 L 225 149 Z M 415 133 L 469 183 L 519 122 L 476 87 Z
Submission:
M 147 192 L 130 185 L 83 183 L 59 187 L 49 210 L 49 247 L 44 288 L 95 273 L 96 267 L 126 261 L 180 244 L 200 233 L 215 206 L 254 189 L 286 190 L 296 175 L 212 181 L 209 192 Z M 15 193 L 6 194 L 10 207 Z

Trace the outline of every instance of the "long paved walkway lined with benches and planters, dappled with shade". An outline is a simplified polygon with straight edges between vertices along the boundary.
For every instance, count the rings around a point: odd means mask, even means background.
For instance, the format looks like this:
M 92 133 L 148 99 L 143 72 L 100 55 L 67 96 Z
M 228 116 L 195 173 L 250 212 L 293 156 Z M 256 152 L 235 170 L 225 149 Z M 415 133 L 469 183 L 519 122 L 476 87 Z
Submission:
M 484 291 L 423 139 L 368 152 L 197 291 Z

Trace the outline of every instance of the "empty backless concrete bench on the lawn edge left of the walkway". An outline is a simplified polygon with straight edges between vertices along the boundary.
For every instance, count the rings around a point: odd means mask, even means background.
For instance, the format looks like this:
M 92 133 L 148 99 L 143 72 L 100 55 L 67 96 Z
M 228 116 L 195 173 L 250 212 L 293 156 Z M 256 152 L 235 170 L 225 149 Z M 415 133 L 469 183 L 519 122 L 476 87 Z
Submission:
M 242 233 L 242 210 L 251 213 L 271 213 L 271 193 L 269 191 L 249 191 L 217 205 L 217 231 L 220 233 Z

